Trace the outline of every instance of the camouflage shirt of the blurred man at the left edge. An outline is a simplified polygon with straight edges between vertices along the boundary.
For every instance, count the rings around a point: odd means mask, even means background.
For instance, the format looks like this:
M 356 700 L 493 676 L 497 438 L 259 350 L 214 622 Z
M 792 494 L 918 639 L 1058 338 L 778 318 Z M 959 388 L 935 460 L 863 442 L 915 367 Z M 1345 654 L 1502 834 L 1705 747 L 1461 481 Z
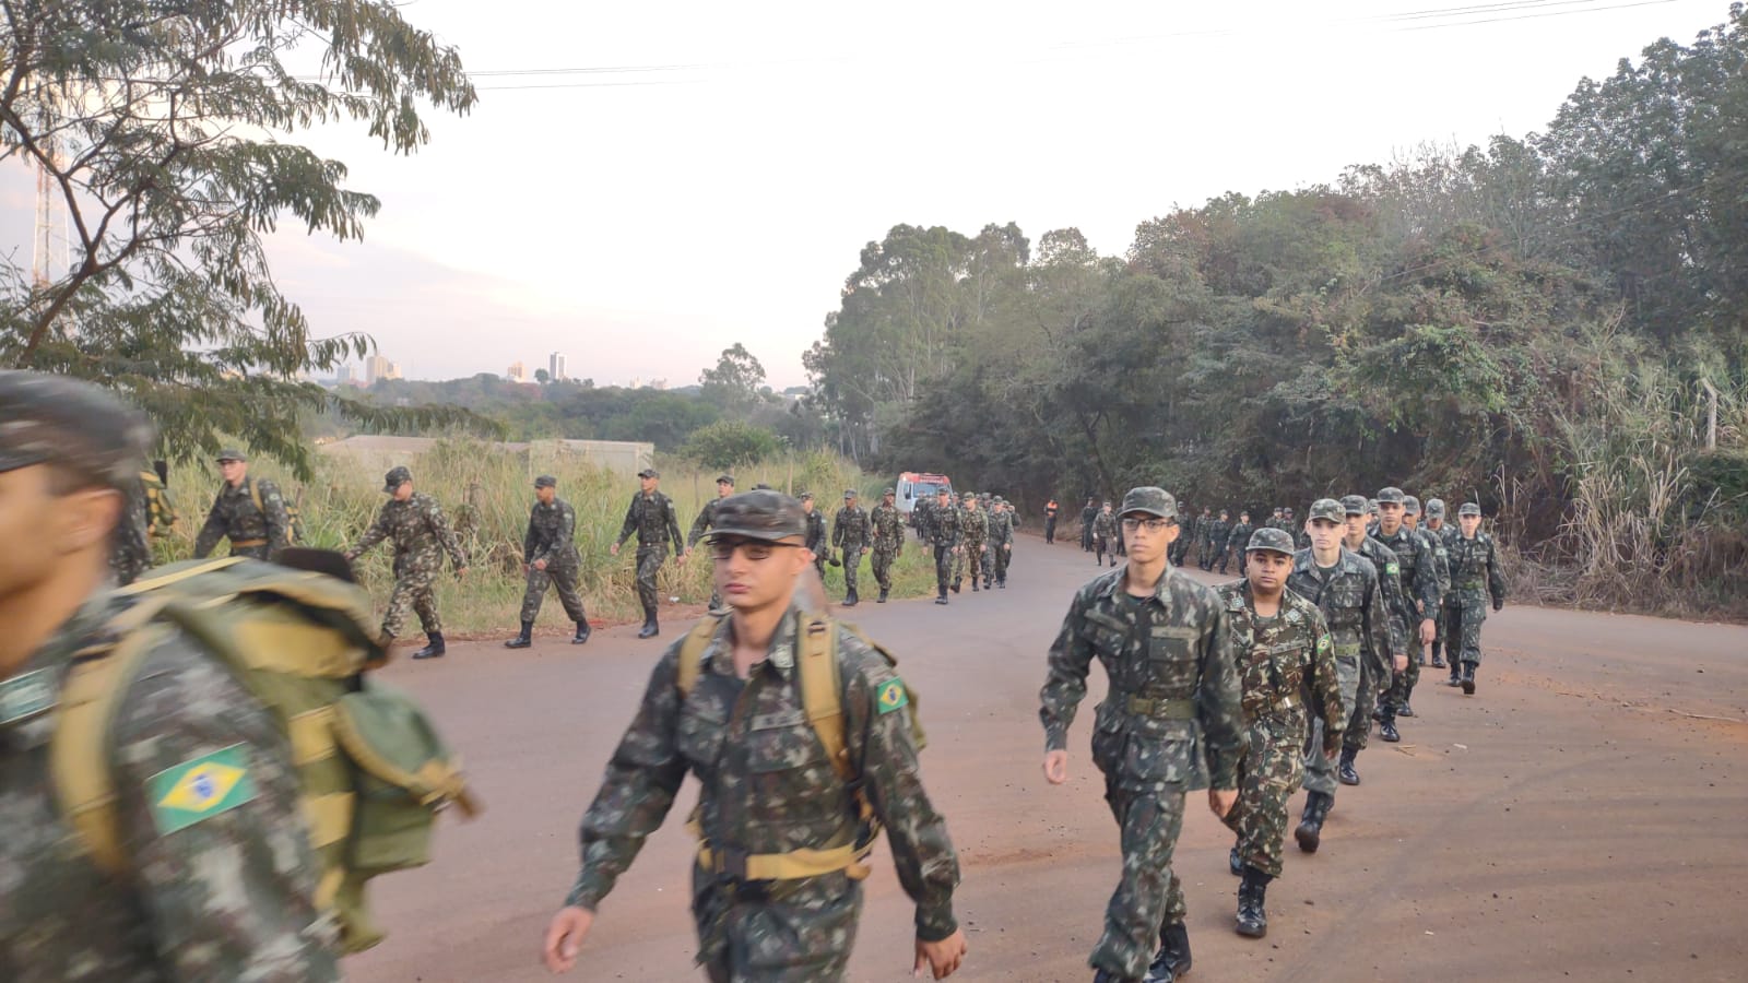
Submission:
M 316 911 L 292 749 L 231 672 L 168 631 L 152 644 L 110 726 L 121 882 L 75 852 L 49 770 L 56 696 L 73 654 L 101 631 L 87 605 L 0 682 L 0 980 L 7 983 L 325 983 L 334 927 Z M 236 750 L 231 808 L 164 826 L 154 784 Z M 236 798 L 236 796 L 232 796 Z

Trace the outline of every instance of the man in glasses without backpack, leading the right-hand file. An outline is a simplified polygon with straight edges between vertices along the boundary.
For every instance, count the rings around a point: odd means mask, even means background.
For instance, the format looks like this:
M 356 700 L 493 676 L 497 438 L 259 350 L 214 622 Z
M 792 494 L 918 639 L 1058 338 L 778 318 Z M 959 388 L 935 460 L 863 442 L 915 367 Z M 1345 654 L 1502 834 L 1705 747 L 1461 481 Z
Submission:
M 1245 750 L 1238 665 L 1218 595 L 1166 563 L 1176 514 L 1161 488 L 1124 495 L 1129 561 L 1075 593 L 1038 693 L 1044 775 L 1061 785 L 1068 728 L 1094 658 L 1110 679 L 1092 724 L 1092 764 L 1105 773 L 1105 801 L 1120 829 L 1122 878 L 1089 960 L 1096 981 L 1143 974 L 1169 981 L 1189 973 L 1183 890 L 1171 873 L 1183 796 L 1210 789 L 1220 817 L 1238 798 Z M 1155 939 L 1161 948 L 1148 966 Z

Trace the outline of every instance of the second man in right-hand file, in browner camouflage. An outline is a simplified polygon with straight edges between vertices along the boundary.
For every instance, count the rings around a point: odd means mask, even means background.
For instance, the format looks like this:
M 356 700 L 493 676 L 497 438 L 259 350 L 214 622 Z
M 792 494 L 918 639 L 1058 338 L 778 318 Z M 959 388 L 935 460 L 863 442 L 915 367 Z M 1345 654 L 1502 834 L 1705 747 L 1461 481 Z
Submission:
M 1269 931 L 1264 901 L 1281 876 L 1287 840 L 1287 799 L 1304 778 L 1308 708 L 1323 722 L 1325 759 L 1341 750 L 1346 722 L 1335 649 L 1314 603 L 1287 589 L 1294 568 L 1294 537 L 1278 528 L 1252 533 L 1245 546 L 1243 581 L 1220 588 L 1232 626 L 1232 656 L 1243 686 L 1250 742 L 1238 766 L 1238 803 L 1225 824 L 1238 834 L 1232 873 L 1238 889 L 1238 934 L 1260 939 Z

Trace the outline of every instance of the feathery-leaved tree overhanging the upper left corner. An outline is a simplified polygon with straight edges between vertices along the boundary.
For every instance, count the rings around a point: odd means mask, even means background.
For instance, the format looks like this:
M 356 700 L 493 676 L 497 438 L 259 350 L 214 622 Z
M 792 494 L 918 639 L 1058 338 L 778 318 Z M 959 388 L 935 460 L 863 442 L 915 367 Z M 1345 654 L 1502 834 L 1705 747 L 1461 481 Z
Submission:
M 262 248 L 287 219 L 362 234 L 378 199 L 287 136 L 357 121 L 411 154 L 430 138 L 420 101 L 475 101 L 453 47 L 371 0 L 9 0 L 0 16 L 0 161 L 38 170 L 73 238 L 47 282 L 0 268 L 0 364 L 122 390 L 175 457 L 241 437 L 302 474 L 299 415 L 467 420 L 297 381 L 374 343 L 315 334 Z

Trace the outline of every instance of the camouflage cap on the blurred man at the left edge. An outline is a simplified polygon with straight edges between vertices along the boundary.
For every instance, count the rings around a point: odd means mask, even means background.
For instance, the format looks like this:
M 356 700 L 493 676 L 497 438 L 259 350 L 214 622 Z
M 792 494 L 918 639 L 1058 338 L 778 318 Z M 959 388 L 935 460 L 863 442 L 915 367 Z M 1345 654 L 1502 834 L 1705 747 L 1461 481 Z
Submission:
M 108 488 L 140 479 L 152 427 L 103 388 L 68 376 L 0 371 L 0 471 L 52 464 Z

